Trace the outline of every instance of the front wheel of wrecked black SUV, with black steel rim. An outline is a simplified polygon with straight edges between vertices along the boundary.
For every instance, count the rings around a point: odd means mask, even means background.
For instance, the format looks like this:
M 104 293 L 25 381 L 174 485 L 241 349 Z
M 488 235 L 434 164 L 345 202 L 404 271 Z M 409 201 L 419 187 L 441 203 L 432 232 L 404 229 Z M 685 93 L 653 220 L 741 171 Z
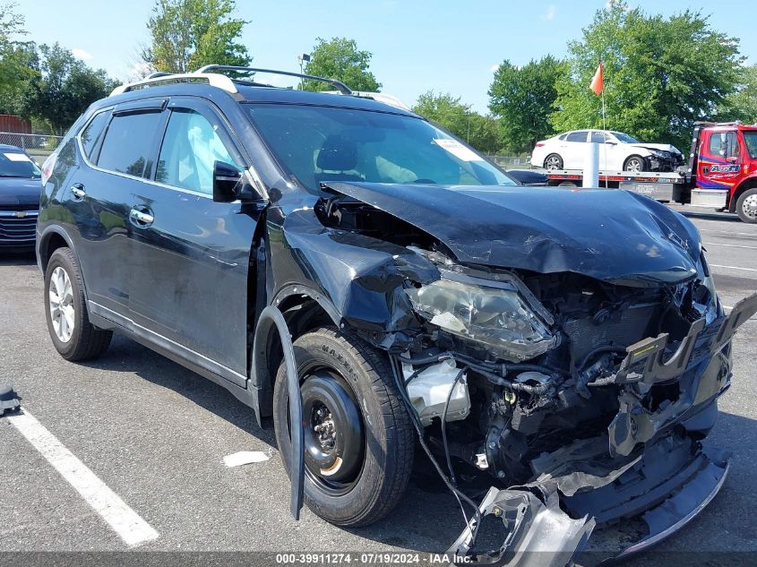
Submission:
M 362 446 L 358 450 L 362 451 L 357 459 L 359 465 L 354 468 L 357 472 L 342 478 L 342 482 L 326 479 L 315 468 L 312 457 L 305 459 L 305 504 L 337 526 L 367 526 L 383 519 L 405 494 L 415 451 L 412 425 L 392 380 L 388 360 L 353 333 L 332 327 L 305 333 L 294 347 L 297 375 L 304 392 L 305 454 L 313 454 L 315 434 L 311 433 L 311 424 L 317 413 L 313 411 L 313 398 L 321 395 L 313 392 L 330 387 L 330 383 L 331 387 L 343 388 L 355 402 L 352 406 L 355 418 L 342 421 L 363 427 L 360 441 L 352 443 L 353 449 Z M 331 408 L 329 412 L 331 417 Z M 340 430 L 347 427 L 340 426 L 339 411 L 333 413 L 336 445 L 331 451 L 336 453 L 343 449 L 340 443 L 346 443 Z M 356 420 L 358 424 L 354 423 Z M 283 364 L 273 389 L 273 424 L 281 459 L 289 474 L 291 441 L 287 373 Z M 354 461 L 355 451 L 341 453 L 345 461 Z

